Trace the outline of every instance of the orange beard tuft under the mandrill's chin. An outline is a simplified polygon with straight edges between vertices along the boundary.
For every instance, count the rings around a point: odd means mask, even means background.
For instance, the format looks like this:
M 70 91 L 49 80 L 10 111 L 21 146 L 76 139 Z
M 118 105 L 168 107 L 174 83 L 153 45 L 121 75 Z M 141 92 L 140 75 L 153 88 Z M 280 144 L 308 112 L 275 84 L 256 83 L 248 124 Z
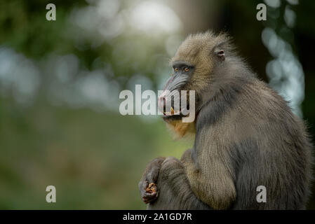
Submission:
M 182 138 L 185 134 L 194 134 L 196 127 L 195 122 L 192 123 L 183 123 L 182 119 L 164 119 L 166 122 L 166 126 L 175 132 L 176 137 Z

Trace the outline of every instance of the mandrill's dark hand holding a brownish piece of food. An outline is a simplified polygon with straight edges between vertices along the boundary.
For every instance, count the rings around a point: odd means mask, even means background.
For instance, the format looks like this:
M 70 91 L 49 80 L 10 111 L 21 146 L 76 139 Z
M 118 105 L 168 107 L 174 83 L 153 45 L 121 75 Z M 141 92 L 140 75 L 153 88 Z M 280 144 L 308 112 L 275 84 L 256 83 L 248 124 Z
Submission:
M 156 181 L 159 176 L 159 171 L 161 169 L 162 162 L 165 158 L 159 157 L 155 158 L 145 168 L 145 173 L 142 175 L 142 179 L 139 183 L 140 195 L 145 202 L 153 202 L 158 197 L 158 190 L 156 188 Z

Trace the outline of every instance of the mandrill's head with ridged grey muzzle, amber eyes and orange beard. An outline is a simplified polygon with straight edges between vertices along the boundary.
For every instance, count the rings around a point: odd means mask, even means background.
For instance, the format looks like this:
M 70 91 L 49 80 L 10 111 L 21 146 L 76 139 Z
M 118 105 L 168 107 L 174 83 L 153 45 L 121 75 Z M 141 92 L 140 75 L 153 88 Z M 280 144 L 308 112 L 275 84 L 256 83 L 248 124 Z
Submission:
M 232 51 L 226 34 L 207 31 L 189 35 L 170 59 L 173 73 L 163 87 L 158 106 L 163 111 L 163 120 L 179 137 L 194 130 L 198 111 L 209 99 L 208 90 L 217 78 L 215 71 L 224 66 Z

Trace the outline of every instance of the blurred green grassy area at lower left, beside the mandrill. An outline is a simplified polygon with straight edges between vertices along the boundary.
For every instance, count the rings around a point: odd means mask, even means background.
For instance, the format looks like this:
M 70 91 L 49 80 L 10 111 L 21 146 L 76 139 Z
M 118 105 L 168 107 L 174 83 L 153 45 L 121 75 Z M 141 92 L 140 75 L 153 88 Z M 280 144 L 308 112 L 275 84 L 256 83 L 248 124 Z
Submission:
M 0 209 L 145 209 L 138 182 L 149 160 L 180 157 L 161 120 L 1 99 Z M 46 186 L 57 189 L 48 204 Z

